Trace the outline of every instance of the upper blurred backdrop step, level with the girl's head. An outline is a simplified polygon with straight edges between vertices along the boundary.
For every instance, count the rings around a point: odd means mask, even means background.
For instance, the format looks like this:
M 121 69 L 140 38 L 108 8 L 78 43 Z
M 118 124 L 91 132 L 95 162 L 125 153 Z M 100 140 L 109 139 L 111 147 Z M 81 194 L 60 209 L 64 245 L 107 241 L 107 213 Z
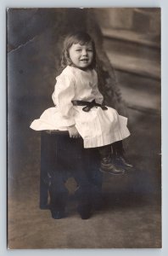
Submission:
M 102 29 L 104 49 L 115 69 L 160 79 L 160 44 L 137 32 Z M 154 35 L 153 35 L 154 38 Z

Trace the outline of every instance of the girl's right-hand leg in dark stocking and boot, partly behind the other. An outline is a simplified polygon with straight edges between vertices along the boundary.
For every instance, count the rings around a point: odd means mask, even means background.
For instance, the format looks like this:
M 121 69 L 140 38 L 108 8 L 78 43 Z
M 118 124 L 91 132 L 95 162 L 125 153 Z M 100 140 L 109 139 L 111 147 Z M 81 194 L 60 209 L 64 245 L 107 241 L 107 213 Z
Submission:
M 124 156 L 124 148 L 122 145 L 122 141 L 116 142 L 112 144 L 113 148 L 113 159 L 115 166 L 120 166 L 123 168 L 132 168 L 132 164 L 130 164 L 126 157 Z

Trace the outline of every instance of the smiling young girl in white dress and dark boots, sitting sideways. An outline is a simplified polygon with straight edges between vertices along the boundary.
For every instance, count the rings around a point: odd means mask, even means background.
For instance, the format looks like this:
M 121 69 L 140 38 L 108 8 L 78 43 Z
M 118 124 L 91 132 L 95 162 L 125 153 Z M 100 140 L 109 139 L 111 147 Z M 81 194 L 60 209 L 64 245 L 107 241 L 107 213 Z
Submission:
M 69 131 L 72 138 L 82 137 L 84 148 L 98 148 L 101 172 L 123 174 L 126 167 L 132 167 L 126 162 L 122 147 L 122 140 L 130 135 L 127 119 L 102 104 L 95 45 L 86 32 L 65 38 L 61 67 L 52 96 L 55 107 L 34 120 L 31 129 Z

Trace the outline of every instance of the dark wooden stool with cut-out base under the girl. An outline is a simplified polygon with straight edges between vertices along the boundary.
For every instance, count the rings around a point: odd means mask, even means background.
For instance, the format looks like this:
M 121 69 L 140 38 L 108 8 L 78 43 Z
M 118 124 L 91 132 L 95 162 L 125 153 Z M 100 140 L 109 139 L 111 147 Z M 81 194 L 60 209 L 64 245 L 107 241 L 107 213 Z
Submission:
M 41 131 L 40 208 L 64 211 L 68 177 L 74 177 L 78 184 L 78 212 L 98 206 L 103 180 L 98 167 L 98 150 L 83 148 L 81 137 L 70 138 L 68 131 Z

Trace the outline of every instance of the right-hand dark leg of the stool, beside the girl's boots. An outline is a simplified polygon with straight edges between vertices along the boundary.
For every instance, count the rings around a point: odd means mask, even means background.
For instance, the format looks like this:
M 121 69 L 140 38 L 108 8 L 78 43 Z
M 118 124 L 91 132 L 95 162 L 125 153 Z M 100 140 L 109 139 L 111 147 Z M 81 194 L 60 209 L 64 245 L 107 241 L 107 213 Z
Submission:
M 81 218 L 89 218 L 92 208 L 98 210 L 103 205 L 103 174 L 99 172 L 99 154 L 97 149 L 82 149 L 81 159 L 76 162 L 73 176 L 79 187 L 76 190 L 77 210 Z

